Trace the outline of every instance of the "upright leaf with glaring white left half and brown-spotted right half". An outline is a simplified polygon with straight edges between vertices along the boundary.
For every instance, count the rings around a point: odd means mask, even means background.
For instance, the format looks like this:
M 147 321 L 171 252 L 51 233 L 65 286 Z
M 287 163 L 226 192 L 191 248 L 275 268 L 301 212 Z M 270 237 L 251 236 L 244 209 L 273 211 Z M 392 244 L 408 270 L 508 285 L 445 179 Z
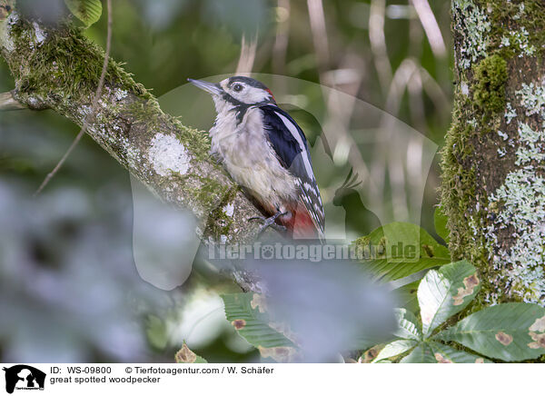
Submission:
M 424 338 L 454 313 L 461 312 L 480 288 L 477 270 L 466 261 L 452 262 L 428 272 L 417 293 Z

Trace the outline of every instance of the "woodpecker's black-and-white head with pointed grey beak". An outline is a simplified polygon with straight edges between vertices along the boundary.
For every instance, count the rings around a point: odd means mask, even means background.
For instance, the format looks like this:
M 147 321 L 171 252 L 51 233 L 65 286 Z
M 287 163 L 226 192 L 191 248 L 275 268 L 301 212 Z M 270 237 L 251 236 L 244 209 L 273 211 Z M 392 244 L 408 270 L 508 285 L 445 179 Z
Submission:
M 271 90 L 263 83 L 250 77 L 235 75 L 224 79 L 219 84 L 191 78 L 188 78 L 188 81 L 212 94 L 218 113 L 240 105 L 276 103 Z

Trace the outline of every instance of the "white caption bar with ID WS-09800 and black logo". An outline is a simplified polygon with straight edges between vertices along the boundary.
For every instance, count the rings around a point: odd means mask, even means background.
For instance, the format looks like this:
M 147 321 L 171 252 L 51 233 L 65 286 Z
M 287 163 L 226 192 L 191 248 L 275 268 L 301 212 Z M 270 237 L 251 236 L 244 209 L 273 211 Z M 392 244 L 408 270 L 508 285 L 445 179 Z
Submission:
M 525 394 L 540 364 L 23 364 L 3 363 L 0 395 Z M 106 392 L 106 393 L 104 393 Z

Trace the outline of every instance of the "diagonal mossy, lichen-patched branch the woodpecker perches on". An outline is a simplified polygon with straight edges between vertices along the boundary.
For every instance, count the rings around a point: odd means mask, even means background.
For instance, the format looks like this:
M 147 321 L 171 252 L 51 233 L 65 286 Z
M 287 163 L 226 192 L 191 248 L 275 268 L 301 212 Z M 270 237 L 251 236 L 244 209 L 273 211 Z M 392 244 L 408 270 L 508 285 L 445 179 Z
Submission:
M 84 124 L 104 52 L 79 29 L 45 26 L 12 11 L 0 19 L 0 54 L 15 79 L 10 103 L 52 109 Z M 114 60 L 89 118 L 86 133 L 94 141 L 164 202 L 194 213 L 203 243 L 247 243 L 256 237 L 259 223 L 247 219 L 261 213 L 211 158 L 206 134 L 164 114 L 154 96 Z M 236 276 L 244 282 L 241 273 Z

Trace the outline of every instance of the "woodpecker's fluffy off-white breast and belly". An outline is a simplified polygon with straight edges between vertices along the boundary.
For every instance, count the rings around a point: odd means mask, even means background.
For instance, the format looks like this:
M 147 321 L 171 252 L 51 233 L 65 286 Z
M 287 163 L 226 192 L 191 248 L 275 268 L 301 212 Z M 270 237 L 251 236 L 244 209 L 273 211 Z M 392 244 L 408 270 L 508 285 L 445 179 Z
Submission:
M 297 183 L 279 163 L 263 129 L 263 116 L 250 107 L 238 122 L 236 112 L 218 114 L 210 130 L 212 152 L 223 161 L 233 180 L 247 188 L 262 203 L 281 210 L 286 201 L 297 200 Z

